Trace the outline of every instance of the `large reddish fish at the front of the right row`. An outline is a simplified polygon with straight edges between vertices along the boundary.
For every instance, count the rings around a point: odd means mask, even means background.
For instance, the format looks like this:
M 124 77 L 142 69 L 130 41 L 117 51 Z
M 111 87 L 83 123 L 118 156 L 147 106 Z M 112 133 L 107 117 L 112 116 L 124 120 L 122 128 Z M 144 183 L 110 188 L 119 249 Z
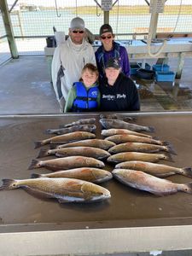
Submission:
M 120 183 L 124 183 L 134 189 L 148 191 L 154 195 L 172 195 L 178 191 L 192 194 L 192 183 L 172 183 L 169 180 L 154 177 L 145 172 L 128 169 L 114 169 L 112 173 L 113 177 L 118 179 Z

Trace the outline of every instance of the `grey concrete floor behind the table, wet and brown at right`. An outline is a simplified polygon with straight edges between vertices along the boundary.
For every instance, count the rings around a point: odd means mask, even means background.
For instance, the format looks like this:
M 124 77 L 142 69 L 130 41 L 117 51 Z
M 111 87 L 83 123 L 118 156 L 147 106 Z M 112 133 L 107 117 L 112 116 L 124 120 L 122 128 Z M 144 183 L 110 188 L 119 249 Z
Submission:
M 152 61 L 149 61 L 151 64 Z M 169 63 L 176 70 L 177 62 Z M 181 80 L 154 83 L 136 80 L 142 111 L 192 109 L 192 60 L 185 61 Z M 134 79 L 134 78 L 133 78 Z M 49 83 L 44 56 L 20 57 L 0 67 L 0 114 L 60 113 L 55 92 Z M 148 256 L 154 253 L 116 253 L 115 256 Z M 157 254 L 156 254 L 157 255 Z M 190 256 L 192 250 L 162 252 L 162 256 Z M 97 255 L 98 256 L 98 255 Z

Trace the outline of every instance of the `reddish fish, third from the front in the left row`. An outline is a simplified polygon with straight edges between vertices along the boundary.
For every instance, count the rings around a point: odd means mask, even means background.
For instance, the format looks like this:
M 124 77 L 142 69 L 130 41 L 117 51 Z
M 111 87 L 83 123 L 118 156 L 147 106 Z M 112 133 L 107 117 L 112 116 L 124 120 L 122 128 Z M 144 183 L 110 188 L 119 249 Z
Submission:
M 101 160 L 96 160 L 92 157 L 85 156 L 68 156 L 59 159 L 51 160 L 32 160 L 28 170 L 45 167 L 51 171 L 67 170 L 78 167 L 104 167 L 104 163 Z

